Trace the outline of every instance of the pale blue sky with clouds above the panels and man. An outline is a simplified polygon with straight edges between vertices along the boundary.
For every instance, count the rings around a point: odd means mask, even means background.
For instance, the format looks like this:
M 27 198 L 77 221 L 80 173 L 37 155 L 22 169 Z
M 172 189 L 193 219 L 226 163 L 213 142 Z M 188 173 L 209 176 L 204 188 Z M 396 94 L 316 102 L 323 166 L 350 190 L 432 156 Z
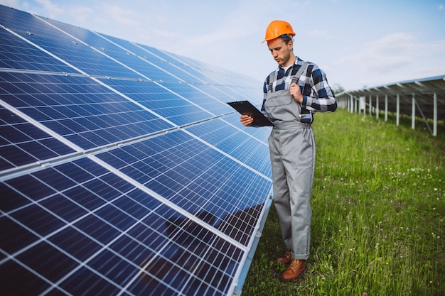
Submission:
M 348 90 L 445 75 L 445 0 L 0 0 L 0 4 L 264 78 L 264 31 L 297 33 L 294 53 Z

